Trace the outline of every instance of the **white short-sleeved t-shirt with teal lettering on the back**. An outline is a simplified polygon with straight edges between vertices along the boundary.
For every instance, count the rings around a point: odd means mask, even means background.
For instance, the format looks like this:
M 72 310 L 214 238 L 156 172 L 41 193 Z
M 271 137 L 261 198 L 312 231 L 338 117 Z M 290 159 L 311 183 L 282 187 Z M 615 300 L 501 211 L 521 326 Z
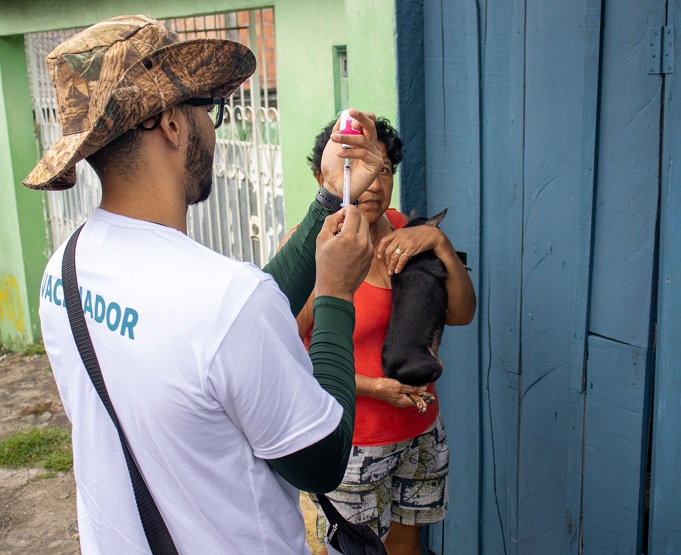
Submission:
M 40 318 L 73 424 L 85 555 L 149 553 L 116 430 L 64 306 L 64 245 Z M 101 209 L 76 250 L 85 320 L 112 404 L 180 553 L 309 553 L 299 491 L 265 459 L 329 435 L 342 408 L 312 376 L 288 300 L 252 264 Z

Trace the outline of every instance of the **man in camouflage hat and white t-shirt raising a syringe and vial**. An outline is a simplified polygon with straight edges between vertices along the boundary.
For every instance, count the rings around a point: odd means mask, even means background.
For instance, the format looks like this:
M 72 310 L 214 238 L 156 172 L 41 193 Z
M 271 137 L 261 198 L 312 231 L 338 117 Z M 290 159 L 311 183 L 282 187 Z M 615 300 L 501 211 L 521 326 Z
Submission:
M 82 310 L 130 450 L 177 551 L 192 555 L 309 553 L 296 488 L 335 488 L 352 439 L 351 301 L 372 247 L 356 207 L 325 207 L 343 157 L 353 199 L 382 168 L 373 120 L 352 110 L 363 133 L 336 128 L 328 190 L 267 273 L 186 236 L 188 206 L 210 193 L 219 108 L 254 63 L 242 45 L 181 42 L 143 16 L 90 27 L 48 58 L 64 137 L 25 181 L 68 188 L 83 158 L 100 177 L 100 207 L 75 236 Z M 81 551 L 149 553 L 117 432 L 71 334 L 63 258 L 64 245 L 40 318 L 73 425 Z M 292 311 L 313 287 L 308 356 Z

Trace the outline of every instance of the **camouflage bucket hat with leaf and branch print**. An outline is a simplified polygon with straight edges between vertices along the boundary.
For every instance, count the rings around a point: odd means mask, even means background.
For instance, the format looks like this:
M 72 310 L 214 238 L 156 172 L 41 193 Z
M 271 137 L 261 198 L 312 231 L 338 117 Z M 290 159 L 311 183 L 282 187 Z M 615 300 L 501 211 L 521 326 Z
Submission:
M 229 40 L 180 41 L 149 17 L 122 16 L 85 29 L 47 57 L 63 136 L 23 181 L 45 191 L 76 183 L 76 163 L 137 124 L 202 92 L 231 95 L 255 56 Z

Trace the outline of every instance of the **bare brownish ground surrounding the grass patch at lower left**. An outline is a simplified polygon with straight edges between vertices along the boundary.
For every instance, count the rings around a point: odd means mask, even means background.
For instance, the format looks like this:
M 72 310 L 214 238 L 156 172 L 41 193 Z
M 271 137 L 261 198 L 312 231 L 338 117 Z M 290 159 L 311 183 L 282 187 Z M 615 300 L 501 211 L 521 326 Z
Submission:
M 36 407 L 40 407 L 39 414 Z M 44 410 L 43 410 L 44 409 Z M 0 356 L 0 440 L 29 426 L 68 427 L 45 355 Z M 0 555 L 80 553 L 73 471 L 42 478 L 43 470 L 0 468 Z M 313 555 L 315 509 L 301 496 Z

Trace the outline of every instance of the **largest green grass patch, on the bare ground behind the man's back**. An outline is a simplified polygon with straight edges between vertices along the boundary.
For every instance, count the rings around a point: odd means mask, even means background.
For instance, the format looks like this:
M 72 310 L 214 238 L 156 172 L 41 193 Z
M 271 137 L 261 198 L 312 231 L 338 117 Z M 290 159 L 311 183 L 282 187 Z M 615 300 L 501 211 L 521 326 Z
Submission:
M 0 466 L 63 472 L 73 466 L 71 432 L 64 428 L 28 428 L 0 441 Z

